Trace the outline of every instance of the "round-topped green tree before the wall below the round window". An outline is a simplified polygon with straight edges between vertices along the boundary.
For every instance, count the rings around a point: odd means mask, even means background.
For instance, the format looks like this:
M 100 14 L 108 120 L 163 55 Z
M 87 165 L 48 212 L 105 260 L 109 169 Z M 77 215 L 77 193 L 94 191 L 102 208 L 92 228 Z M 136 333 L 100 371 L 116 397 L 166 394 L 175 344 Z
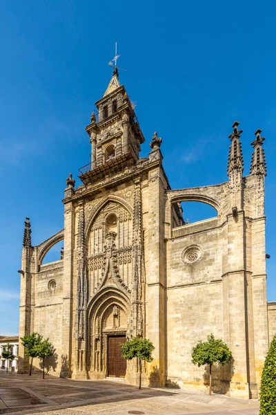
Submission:
M 209 395 L 212 394 L 212 365 L 219 363 L 219 365 L 226 365 L 233 359 L 232 353 L 221 339 L 215 339 L 211 333 L 207 336 L 207 342 L 198 342 L 192 349 L 192 362 L 194 365 L 209 366 Z

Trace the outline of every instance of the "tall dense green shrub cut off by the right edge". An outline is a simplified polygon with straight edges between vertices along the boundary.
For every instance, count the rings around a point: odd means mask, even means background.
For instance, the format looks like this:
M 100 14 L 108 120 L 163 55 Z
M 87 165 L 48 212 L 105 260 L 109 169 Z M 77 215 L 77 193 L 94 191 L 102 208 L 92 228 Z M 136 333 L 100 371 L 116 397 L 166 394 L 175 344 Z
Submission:
M 259 415 L 276 414 L 276 335 L 264 361 Z

